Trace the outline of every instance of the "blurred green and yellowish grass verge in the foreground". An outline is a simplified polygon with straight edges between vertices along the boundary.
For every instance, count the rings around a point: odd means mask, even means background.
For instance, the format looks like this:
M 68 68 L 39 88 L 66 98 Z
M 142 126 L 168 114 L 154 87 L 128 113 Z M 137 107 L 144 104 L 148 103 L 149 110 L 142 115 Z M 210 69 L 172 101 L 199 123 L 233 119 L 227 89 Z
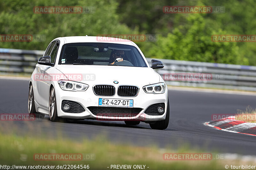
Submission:
M 223 166 L 221 166 L 218 160 L 166 161 L 163 160 L 164 152 L 157 147 L 135 147 L 129 144 L 112 144 L 105 137 L 74 142 L 63 138 L 21 137 L 15 134 L 0 133 L 0 139 L 0 165 L 89 165 L 90 169 L 110 169 L 110 165 L 125 164 L 132 166 L 146 165 L 145 169 L 150 170 L 223 169 Z M 188 153 L 188 151 L 186 152 Z M 95 160 L 35 161 L 33 155 L 37 153 L 90 153 L 95 155 Z

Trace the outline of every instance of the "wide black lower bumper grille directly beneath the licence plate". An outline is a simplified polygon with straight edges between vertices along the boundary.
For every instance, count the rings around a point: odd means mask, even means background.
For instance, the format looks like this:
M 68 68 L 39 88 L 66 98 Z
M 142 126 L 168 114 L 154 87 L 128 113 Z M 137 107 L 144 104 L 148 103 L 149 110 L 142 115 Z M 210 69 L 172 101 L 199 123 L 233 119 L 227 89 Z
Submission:
M 142 108 L 127 108 L 127 107 L 87 107 L 93 115 L 98 116 L 124 116 L 133 117 L 137 116 Z

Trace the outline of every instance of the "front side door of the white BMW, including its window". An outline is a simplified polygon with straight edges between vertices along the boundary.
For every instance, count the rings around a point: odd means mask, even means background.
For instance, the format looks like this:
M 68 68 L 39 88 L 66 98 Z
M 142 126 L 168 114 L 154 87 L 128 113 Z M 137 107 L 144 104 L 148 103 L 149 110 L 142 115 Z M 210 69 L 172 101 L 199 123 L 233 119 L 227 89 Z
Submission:
M 59 49 L 59 42 L 56 42 L 55 45 L 52 48 L 52 52 L 50 54 L 51 56 L 51 63 L 55 63 L 57 52 Z M 43 74 L 44 74 L 44 80 L 40 81 L 40 94 L 41 99 L 40 103 L 43 107 L 48 108 L 49 107 L 49 93 L 50 93 L 50 85 L 51 85 L 51 75 L 54 73 L 54 66 L 44 66 Z M 53 80 L 56 81 L 56 80 Z

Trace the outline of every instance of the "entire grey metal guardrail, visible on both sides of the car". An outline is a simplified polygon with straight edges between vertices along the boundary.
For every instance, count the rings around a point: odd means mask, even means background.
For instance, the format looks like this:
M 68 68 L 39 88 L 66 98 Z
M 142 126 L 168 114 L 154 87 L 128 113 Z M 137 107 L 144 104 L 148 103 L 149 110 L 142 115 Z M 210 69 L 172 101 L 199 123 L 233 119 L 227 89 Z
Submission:
M 0 72 L 32 73 L 44 51 L 0 48 Z M 149 65 L 151 59 L 147 58 Z M 256 66 L 156 59 L 164 63 L 156 71 L 169 73 L 210 73 L 209 81 L 166 81 L 167 85 L 256 91 Z

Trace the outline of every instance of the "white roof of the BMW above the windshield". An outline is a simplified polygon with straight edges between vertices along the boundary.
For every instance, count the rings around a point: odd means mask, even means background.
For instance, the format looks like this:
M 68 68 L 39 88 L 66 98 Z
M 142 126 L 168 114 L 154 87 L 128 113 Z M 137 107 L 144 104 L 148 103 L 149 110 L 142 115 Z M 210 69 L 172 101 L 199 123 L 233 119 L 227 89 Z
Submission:
M 101 36 L 58 37 L 54 40 L 64 41 L 64 44 L 76 43 L 76 42 L 104 42 L 104 43 L 116 43 L 116 44 L 126 44 L 126 45 L 134 46 L 133 42 L 130 40 L 114 38 L 114 37 L 101 37 Z

